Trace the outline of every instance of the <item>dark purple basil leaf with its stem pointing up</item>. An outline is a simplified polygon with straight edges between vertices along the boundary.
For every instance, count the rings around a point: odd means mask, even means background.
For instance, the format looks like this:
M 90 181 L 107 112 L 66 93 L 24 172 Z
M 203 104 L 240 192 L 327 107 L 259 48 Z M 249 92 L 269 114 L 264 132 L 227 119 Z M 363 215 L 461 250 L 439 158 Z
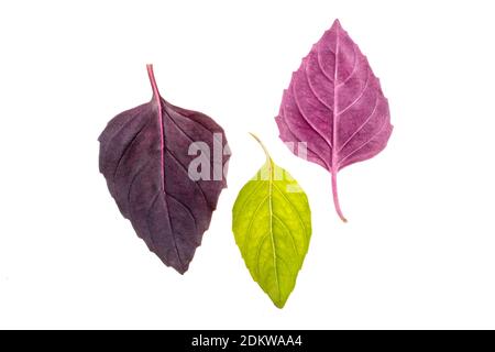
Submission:
M 100 172 L 138 235 L 166 265 L 183 274 L 227 186 L 222 173 L 229 160 L 223 153 L 227 140 L 211 118 L 164 100 L 153 67 L 147 69 L 153 98 L 108 123 L 99 138 Z M 195 144 L 198 153 L 211 154 L 208 166 L 216 174 L 209 180 L 189 177 L 189 165 L 198 157 L 189 155 L 194 142 L 202 142 Z

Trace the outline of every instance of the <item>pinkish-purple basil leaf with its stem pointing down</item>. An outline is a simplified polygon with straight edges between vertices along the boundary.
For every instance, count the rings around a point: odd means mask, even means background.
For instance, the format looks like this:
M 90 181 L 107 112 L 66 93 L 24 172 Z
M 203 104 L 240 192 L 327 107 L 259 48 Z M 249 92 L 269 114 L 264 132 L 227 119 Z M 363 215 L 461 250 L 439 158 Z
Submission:
M 385 148 L 393 125 L 380 80 L 339 20 L 293 74 L 275 120 L 284 142 L 306 142 L 307 158 L 332 174 L 336 210 L 346 221 L 337 174 Z

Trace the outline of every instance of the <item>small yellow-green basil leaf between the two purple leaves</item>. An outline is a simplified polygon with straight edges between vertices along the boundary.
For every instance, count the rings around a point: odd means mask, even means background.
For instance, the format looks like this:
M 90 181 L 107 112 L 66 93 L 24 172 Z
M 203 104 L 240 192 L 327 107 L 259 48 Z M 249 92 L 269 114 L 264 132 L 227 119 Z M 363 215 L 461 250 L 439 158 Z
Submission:
M 311 211 L 301 187 L 254 138 L 266 163 L 239 193 L 232 231 L 251 276 L 283 308 L 308 252 Z

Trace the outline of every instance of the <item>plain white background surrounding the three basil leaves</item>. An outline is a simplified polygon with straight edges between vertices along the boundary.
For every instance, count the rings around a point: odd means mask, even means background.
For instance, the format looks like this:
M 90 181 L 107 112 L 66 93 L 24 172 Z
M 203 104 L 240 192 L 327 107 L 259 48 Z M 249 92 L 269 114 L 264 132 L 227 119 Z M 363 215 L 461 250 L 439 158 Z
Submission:
M 495 328 L 493 1 L 2 1 L 1 328 Z M 389 99 L 375 158 L 330 175 L 273 120 L 339 18 Z M 162 95 L 224 127 L 229 188 L 185 276 L 134 234 L 98 172 L 118 112 Z M 314 235 L 283 310 L 251 279 L 231 208 L 263 163 L 305 188 Z

